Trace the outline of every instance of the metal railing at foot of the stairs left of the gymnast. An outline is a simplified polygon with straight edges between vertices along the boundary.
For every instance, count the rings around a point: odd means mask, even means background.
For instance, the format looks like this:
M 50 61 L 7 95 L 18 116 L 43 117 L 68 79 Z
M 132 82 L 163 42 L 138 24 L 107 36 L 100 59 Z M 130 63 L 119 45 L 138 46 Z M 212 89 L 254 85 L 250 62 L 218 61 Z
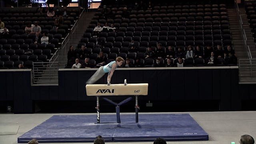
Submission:
M 32 85 L 57 85 L 58 62 L 33 62 Z

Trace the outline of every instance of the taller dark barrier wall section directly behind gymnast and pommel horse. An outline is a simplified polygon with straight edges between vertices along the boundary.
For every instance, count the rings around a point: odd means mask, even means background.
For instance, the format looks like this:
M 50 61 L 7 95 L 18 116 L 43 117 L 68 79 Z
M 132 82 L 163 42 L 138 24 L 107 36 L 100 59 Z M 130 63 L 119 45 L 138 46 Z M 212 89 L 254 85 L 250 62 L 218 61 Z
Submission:
M 95 70 L 59 70 L 59 100 L 95 100 L 87 97 L 85 83 Z M 107 74 L 97 83 L 106 84 Z M 148 83 L 143 100 L 218 100 L 219 110 L 240 110 L 237 67 L 204 68 L 119 68 L 112 84 Z M 112 100 L 123 100 L 115 96 Z

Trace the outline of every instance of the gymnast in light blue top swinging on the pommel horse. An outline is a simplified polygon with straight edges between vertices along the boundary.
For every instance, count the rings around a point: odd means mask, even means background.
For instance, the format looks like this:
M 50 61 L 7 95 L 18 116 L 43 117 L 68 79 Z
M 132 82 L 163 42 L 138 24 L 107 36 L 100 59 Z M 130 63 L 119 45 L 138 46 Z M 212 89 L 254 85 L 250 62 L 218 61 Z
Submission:
M 97 80 L 102 78 L 105 73 L 108 72 L 107 82 L 110 84 L 111 77 L 116 70 L 117 66 L 122 66 L 124 63 L 124 59 L 120 56 L 116 58 L 116 61 L 112 61 L 105 66 L 101 66 L 93 75 L 92 77 L 86 82 L 86 84 L 94 84 Z

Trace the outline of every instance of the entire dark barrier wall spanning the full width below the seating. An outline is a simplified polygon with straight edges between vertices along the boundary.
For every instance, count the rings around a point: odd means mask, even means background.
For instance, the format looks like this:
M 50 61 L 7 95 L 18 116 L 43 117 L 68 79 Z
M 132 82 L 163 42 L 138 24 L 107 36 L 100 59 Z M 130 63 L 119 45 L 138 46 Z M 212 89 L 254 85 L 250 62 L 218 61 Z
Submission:
M 13 102 L 15 113 L 34 112 L 34 101 L 46 102 L 95 102 L 95 97 L 86 96 L 85 82 L 96 69 L 60 69 L 58 86 L 31 86 L 30 70 L 0 70 L 0 104 Z M 139 100 L 151 102 L 204 101 L 219 103 L 219 109 L 250 110 L 248 102 L 256 100 L 256 84 L 238 84 L 237 67 L 202 68 L 118 68 L 112 84 L 148 83 L 148 96 Z M 106 75 L 98 84 L 106 84 Z M 112 96 L 120 101 L 127 96 Z M 244 104 L 242 104 L 244 103 Z

